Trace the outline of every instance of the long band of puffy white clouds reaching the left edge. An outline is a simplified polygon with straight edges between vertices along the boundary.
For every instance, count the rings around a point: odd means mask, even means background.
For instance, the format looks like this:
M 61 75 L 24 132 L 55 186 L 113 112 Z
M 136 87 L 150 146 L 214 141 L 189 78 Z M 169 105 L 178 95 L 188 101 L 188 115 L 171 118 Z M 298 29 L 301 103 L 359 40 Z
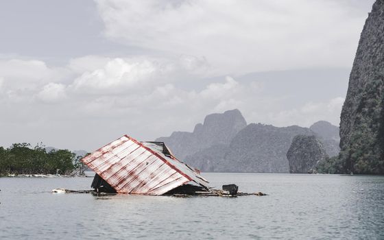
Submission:
M 148 95 L 172 82 L 199 79 L 206 67 L 204 58 L 193 56 L 83 56 L 62 67 L 48 67 L 40 60 L 0 60 L 0 90 L 9 101 L 46 103 L 69 95 L 73 100 Z

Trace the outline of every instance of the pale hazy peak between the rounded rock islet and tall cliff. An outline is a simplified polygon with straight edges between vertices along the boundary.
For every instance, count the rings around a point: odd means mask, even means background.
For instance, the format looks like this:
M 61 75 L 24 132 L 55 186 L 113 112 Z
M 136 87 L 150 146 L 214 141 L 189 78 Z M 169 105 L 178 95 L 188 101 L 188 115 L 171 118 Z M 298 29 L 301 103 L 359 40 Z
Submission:
M 328 156 L 337 156 L 340 152 L 339 127 L 328 123 L 328 121 L 317 121 L 309 129 L 315 132 L 322 142 Z

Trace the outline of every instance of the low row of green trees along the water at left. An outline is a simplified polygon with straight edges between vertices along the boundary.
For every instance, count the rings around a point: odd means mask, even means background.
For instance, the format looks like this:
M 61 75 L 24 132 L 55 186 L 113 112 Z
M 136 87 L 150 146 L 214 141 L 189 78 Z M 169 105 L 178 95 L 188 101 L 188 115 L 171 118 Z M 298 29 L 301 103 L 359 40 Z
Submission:
M 0 147 L 0 175 L 9 174 L 84 174 L 85 166 L 67 149 L 47 151 L 43 144 L 14 143 Z

